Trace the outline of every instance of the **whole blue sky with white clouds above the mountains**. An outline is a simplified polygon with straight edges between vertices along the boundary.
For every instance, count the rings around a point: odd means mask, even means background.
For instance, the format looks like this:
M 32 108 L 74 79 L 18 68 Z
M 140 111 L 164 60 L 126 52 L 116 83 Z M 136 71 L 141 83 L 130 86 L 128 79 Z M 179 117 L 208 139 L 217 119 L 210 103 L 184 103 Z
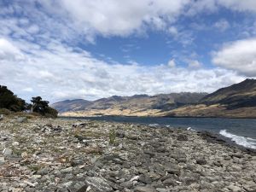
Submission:
M 0 84 L 26 101 L 210 93 L 255 77 L 255 0 L 0 0 Z

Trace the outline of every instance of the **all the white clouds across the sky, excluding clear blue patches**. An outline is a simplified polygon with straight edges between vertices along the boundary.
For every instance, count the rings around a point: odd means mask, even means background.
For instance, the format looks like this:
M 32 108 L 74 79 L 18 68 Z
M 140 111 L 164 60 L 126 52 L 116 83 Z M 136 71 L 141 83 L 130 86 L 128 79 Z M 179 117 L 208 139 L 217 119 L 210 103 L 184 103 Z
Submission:
M 208 68 L 196 58 L 187 61 L 186 67 L 179 67 L 173 58 L 154 66 L 136 61 L 131 64 L 102 61 L 79 47 L 79 43 L 96 44 L 99 36 L 140 37 L 147 36 L 148 31 L 160 31 L 182 44 L 191 44 L 191 34 L 175 26 L 180 18 L 218 12 L 219 7 L 255 13 L 255 3 L 254 0 L 0 3 L 0 82 L 27 100 L 43 96 L 50 102 L 141 93 L 212 92 L 247 76 L 256 76 L 254 38 L 224 44 L 212 55 L 212 62 L 218 67 Z M 225 31 L 230 24 L 219 20 L 215 27 Z

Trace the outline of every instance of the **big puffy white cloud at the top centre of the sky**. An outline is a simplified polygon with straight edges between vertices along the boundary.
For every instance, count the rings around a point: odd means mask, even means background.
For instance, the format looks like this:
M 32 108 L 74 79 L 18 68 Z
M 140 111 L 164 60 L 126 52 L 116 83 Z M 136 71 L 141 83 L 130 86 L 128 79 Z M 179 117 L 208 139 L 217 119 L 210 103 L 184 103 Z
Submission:
M 126 36 L 147 25 L 161 29 L 175 20 L 189 0 L 83 1 L 61 0 L 61 7 L 84 31 Z

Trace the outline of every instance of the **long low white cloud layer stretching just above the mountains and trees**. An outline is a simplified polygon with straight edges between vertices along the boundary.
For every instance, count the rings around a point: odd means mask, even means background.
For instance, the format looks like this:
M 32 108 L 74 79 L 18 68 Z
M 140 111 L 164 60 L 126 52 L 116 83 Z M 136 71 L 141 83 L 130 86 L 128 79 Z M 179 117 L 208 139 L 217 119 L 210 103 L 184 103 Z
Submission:
M 38 49 L 32 43 L 19 40 L 13 44 L 24 51 L 24 60 L 0 62 L 1 84 L 8 85 L 27 100 L 38 95 L 56 102 L 142 93 L 211 92 L 243 79 L 221 68 L 189 70 L 168 65 L 112 64 L 56 42 L 49 46 L 50 49 Z M 171 60 L 172 66 L 173 63 Z

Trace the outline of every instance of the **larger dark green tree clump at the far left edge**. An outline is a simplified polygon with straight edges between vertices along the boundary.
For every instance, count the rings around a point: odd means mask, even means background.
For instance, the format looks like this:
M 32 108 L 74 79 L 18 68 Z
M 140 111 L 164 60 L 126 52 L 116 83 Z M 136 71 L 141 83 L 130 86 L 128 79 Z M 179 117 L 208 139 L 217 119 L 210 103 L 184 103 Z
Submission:
M 7 108 L 19 112 L 26 109 L 26 102 L 15 96 L 6 86 L 0 85 L 0 108 Z

